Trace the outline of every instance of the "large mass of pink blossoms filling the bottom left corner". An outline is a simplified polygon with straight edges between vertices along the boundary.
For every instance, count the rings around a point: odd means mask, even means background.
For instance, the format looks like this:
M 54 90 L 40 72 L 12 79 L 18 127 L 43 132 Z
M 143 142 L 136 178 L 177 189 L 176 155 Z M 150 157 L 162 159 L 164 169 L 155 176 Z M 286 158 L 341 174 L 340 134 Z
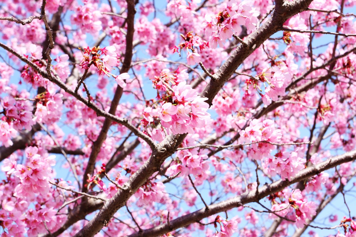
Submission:
M 54 199 L 60 197 L 52 193 L 48 183 L 54 175 L 54 156 L 40 155 L 38 148 L 32 146 L 25 149 L 25 156 L 26 162 L 21 164 L 16 155 L 11 155 L 1 167 L 7 176 L 0 189 L 2 236 L 20 237 L 27 233 L 35 237 L 48 229 L 57 230 L 66 219 L 57 215 Z

